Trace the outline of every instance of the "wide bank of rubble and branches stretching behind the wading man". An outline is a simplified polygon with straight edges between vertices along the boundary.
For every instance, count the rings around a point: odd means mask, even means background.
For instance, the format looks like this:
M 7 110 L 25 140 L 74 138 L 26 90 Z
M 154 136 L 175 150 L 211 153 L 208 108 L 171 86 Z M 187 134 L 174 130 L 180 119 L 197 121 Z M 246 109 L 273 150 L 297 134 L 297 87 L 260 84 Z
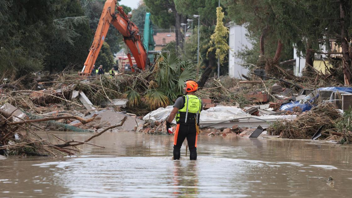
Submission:
M 100 134 L 111 127 L 167 134 L 164 121 L 172 109 L 167 105 L 172 101 L 148 101 L 158 87 L 153 72 L 89 78 L 63 74 L 56 76 L 56 80 L 46 78 L 48 80 L 36 74 L 33 82 L 26 86 L 22 86 L 20 80 L 0 85 L 3 126 L 0 149 L 19 155 L 73 154 L 78 151 L 75 146 L 82 144 L 52 144 L 40 138 L 36 134 L 38 130 L 53 137 L 49 130 Z M 197 92 L 204 104 L 200 134 L 311 138 L 321 129 L 322 138 L 351 142 L 350 118 L 341 113 L 350 107 L 351 93 L 352 88 L 348 87 L 314 90 L 281 79 L 210 78 Z

